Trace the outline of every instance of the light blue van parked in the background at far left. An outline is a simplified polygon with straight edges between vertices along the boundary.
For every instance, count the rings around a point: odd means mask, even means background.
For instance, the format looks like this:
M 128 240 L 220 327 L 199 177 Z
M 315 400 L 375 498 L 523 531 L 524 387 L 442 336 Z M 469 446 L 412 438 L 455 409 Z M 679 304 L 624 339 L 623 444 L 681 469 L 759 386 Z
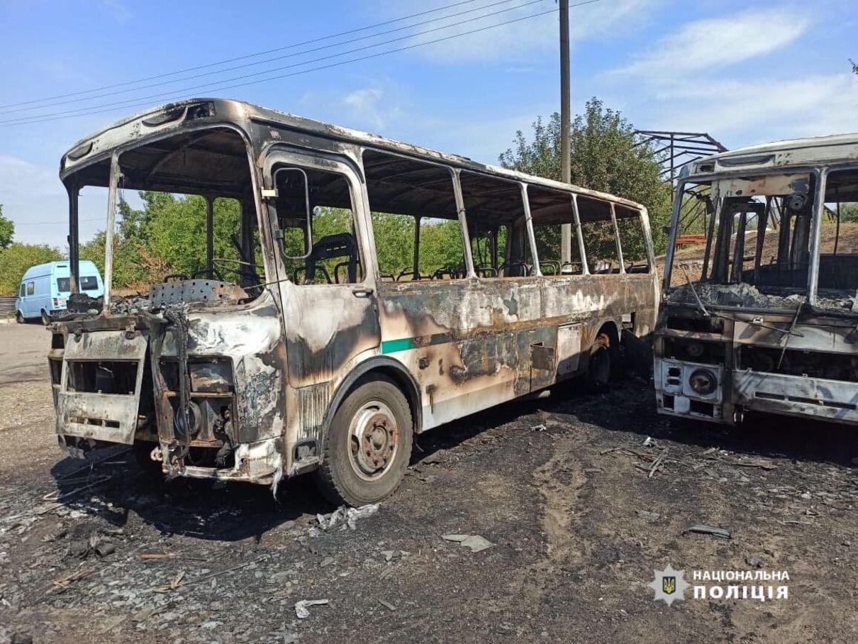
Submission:
M 78 293 L 90 297 L 104 295 L 105 285 L 95 264 L 88 260 L 82 261 L 78 275 L 81 276 Z M 51 315 L 65 311 L 69 295 L 71 276 L 68 261 L 31 266 L 24 273 L 18 288 L 15 319 L 22 323 L 27 319 L 41 318 L 43 324 L 49 325 Z

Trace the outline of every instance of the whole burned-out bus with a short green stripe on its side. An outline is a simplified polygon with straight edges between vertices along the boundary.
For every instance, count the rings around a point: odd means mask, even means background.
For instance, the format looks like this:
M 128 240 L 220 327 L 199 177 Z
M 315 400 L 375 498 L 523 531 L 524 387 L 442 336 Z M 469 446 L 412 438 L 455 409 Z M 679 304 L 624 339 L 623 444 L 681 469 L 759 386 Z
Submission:
M 275 490 L 315 471 L 335 502 L 378 501 L 414 434 L 579 375 L 607 386 L 656 321 L 641 205 L 239 101 L 122 120 L 60 177 L 71 266 L 82 189 L 107 202 L 105 294 L 72 295 L 51 327 L 78 457 L 124 444 L 168 477 Z M 118 202 L 143 190 L 204 199 L 205 259 L 120 297 Z

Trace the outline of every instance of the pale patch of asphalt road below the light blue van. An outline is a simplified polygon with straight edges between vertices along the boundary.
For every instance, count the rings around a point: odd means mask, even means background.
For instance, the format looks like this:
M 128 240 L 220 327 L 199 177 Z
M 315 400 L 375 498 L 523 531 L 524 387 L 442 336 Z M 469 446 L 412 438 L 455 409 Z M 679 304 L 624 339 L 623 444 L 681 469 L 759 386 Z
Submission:
M 51 336 L 40 324 L 0 323 L 0 385 L 47 380 Z

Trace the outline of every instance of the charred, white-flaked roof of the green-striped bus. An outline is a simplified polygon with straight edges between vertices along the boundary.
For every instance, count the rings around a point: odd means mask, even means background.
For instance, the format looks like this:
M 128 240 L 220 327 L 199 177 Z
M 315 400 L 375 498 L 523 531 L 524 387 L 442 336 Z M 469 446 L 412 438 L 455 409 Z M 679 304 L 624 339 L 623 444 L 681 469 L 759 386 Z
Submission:
M 176 117 L 171 118 L 172 115 L 176 115 Z M 193 121 L 189 124 L 191 119 Z M 576 192 L 577 194 L 612 201 L 627 208 L 636 210 L 643 208 L 641 204 L 637 204 L 630 199 L 616 197 L 606 192 L 589 190 L 577 185 L 564 184 L 553 179 L 519 173 L 505 167 L 480 163 L 466 156 L 438 152 L 437 150 L 423 148 L 411 143 L 402 143 L 395 139 L 381 137 L 377 134 L 353 130 L 338 125 L 330 125 L 323 121 L 280 112 L 245 101 L 213 98 L 181 100 L 154 107 L 119 120 L 113 125 L 109 125 L 103 130 L 81 139 L 63 155 L 60 165 L 60 178 L 65 179 L 66 176 L 75 172 L 80 167 L 104 159 L 111 154 L 113 149 L 117 149 L 127 143 L 137 139 L 140 139 L 141 143 L 143 143 L 150 136 L 163 136 L 166 131 L 178 130 L 182 125 L 195 125 L 195 123 L 200 122 L 202 119 L 207 123 L 269 123 L 288 130 L 310 133 L 346 143 L 357 143 L 368 148 L 388 150 L 426 161 L 434 161 L 452 167 L 468 169 L 477 173 L 492 174 L 505 179 L 524 181 L 533 185 L 543 185 L 562 191 Z M 272 136 L 272 140 L 276 140 L 276 138 Z

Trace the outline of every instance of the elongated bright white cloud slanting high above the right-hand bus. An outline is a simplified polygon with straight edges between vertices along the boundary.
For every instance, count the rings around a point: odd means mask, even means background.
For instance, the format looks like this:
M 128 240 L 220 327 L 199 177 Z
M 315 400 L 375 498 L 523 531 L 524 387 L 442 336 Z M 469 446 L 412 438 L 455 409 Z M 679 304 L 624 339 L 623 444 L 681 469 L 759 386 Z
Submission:
M 689 22 L 615 73 L 662 82 L 757 58 L 798 39 L 810 21 L 795 9 L 752 9 Z

